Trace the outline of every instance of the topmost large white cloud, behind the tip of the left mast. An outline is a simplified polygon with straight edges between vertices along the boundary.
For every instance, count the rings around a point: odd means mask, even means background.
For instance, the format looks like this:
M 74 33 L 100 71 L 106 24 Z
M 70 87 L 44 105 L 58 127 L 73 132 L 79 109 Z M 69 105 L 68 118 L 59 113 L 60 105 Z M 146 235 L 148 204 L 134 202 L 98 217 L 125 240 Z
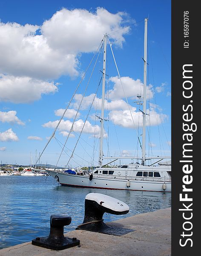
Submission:
M 64 54 L 95 51 L 105 33 L 109 34 L 122 28 L 126 13 L 112 14 L 106 9 L 97 8 L 96 12 L 84 9 L 62 9 L 41 26 L 43 36 L 52 49 L 60 49 Z M 120 46 L 123 35 L 129 27 L 110 35 Z

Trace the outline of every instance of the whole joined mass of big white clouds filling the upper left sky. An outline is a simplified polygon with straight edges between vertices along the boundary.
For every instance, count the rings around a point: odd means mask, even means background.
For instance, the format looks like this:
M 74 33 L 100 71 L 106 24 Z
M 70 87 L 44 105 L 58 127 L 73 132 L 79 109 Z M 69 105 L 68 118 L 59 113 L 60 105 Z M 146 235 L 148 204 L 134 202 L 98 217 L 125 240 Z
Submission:
M 0 22 L 0 101 L 28 103 L 55 92 L 52 79 L 78 76 L 79 56 L 94 52 L 103 35 L 120 47 L 127 14 L 112 14 L 106 9 L 61 9 L 38 25 Z M 129 20 L 130 22 L 130 20 Z

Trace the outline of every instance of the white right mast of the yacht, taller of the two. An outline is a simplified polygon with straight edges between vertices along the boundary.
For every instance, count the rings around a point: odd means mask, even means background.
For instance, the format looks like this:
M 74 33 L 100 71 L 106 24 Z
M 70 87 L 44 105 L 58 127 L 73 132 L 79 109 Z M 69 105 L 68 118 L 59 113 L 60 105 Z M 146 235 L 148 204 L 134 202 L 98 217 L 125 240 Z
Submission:
M 147 58 L 147 20 L 144 20 L 144 93 L 143 93 L 143 132 L 142 132 L 142 165 L 145 165 L 145 139 L 146 139 L 146 58 Z

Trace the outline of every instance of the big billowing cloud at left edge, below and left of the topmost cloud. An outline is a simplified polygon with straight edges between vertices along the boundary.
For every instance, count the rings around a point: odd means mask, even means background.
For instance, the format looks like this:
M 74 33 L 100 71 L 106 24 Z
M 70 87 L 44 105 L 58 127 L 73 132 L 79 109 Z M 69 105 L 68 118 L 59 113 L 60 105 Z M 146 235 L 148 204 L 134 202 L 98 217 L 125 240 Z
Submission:
M 63 55 L 59 49 L 49 47 L 43 35 L 35 34 L 38 28 L 28 24 L 0 23 L 0 72 L 36 79 L 78 75 L 76 56 Z

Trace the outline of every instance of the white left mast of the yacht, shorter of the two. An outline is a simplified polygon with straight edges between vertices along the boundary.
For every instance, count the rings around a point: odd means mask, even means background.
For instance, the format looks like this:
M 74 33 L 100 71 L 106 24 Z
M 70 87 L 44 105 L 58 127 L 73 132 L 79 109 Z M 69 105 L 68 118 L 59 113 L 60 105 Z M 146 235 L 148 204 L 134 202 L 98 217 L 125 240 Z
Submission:
M 100 118 L 100 146 L 99 146 L 99 160 L 100 166 L 103 165 L 103 122 L 104 122 L 104 103 L 105 103 L 105 72 L 106 72 L 106 46 L 107 35 L 104 35 L 104 53 L 103 53 L 103 84 L 102 84 L 102 105 L 101 105 L 101 118 Z

